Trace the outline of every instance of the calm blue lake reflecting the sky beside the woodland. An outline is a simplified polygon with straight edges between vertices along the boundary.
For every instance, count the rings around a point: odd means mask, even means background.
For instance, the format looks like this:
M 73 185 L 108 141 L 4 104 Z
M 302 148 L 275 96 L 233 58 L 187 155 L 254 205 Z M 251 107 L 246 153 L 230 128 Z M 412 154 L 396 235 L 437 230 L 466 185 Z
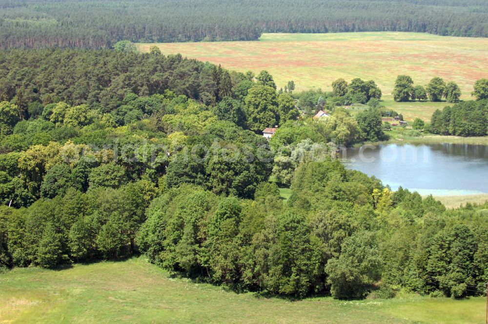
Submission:
M 488 193 L 488 146 L 468 144 L 382 144 L 350 148 L 346 168 L 434 196 Z

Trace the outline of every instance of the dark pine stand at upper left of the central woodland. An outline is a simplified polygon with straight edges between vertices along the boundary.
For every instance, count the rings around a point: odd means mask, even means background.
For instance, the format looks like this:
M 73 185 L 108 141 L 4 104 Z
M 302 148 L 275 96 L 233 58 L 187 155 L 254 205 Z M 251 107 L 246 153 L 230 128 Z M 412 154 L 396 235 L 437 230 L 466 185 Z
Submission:
M 21 118 L 29 118 L 28 106 L 36 101 L 98 102 L 108 111 L 127 92 L 149 96 L 168 89 L 215 102 L 231 87 L 228 71 L 181 55 L 163 56 L 159 50 L 143 55 L 111 50 L 0 51 L 0 100 L 13 100 Z

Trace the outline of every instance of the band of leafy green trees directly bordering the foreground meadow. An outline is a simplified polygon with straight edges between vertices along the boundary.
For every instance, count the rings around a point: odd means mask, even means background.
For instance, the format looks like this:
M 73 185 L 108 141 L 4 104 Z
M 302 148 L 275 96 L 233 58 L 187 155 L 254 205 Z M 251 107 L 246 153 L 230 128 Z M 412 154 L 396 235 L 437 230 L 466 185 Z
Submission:
M 140 251 L 171 273 L 235 291 L 391 298 L 400 285 L 433 297 L 483 294 L 486 205 L 446 210 L 330 159 L 302 163 L 291 190 L 284 203 L 269 182 L 252 200 L 147 179 L 70 188 L 28 208 L 1 206 L 0 261 L 51 268 Z

